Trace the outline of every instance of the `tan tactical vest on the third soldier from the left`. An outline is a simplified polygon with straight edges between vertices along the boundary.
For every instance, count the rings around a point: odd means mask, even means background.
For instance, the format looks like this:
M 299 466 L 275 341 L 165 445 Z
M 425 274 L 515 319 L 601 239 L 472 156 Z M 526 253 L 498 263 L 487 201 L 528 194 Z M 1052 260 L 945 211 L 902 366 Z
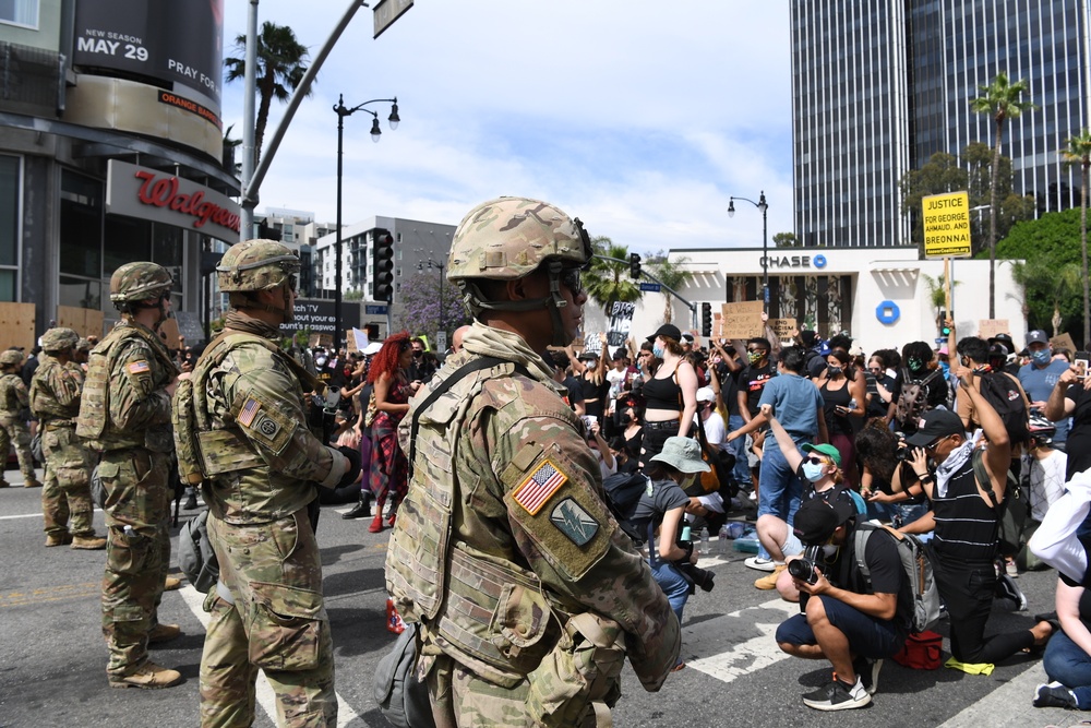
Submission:
M 156 389 L 166 386 L 178 375 L 178 367 L 171 361 L 163 342 L 154 335 L 148 335 L 142 326 L 123 321 L 91 351 L 87 377 L 83 383 L 80 415 L 75 421 L 75 433 L 87 441 L 88 447 L 99 452 L 122 447 L 147 447 L 154 452 L 169 452 L 171 438 L 170 433 L 166 432 L 166 426 L 140 432 L 122 432 L 116 427 L 109 427 L 112 351 L 131 336 L 140 337 L 151 346 L 156 363 L 166 373 L 165 381 L 155 382 Z

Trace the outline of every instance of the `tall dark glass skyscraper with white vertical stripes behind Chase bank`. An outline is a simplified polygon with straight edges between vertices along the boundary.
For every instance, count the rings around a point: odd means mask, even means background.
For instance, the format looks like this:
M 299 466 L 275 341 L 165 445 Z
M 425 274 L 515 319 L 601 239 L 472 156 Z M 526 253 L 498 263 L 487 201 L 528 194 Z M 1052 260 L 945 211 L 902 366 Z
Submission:
M 936 152 L 992 146 L 970 110 L 998 71 L 1038 105 L 1004 130 L 1039 212 L 1079 204 L 1063 164 L 1088 117 L 1089 0 L 792 0 L 795 232 L 804 246 L 908 244 L 898 182 Z

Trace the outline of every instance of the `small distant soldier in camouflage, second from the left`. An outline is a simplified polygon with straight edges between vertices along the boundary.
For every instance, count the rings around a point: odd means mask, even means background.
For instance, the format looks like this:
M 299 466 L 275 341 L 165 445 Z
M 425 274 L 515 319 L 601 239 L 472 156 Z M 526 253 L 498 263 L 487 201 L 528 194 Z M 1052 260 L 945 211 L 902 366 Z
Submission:
M 46 456 L 41 489 L 46 546 L 98 550 L 106 548 L 106 539 L 95 536 L 91 523 L 91 455 L 75 434 L 83 392 L 83 370 L 72 361 L 79 341 L 71 329 L 50 329 L 41 335 L 43 356 L 31 380 L 31 411 L 38 418 Z

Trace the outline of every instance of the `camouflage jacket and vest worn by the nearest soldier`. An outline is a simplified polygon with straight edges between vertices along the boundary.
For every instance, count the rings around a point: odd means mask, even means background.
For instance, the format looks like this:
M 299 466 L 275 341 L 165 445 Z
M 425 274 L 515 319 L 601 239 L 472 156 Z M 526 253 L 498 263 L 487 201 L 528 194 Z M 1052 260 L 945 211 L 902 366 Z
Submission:
M 409 491 L 387 551 L 396 606 L 424 622 L 432 642 L 425 654 L 439 648 L 506 685 L 556 642 L 548 633 L 550 609 L 562 622 L 566 613 L 594 611 L 621 625 L 637 676 L 658 690 L 678 658 L 678 620 L 647 561 L 610 516 L 598 461 L 561 398 L 563 387 L 520 336 L 475 323 L 464 350 L 410 403 L 399 429 L 403 450 L 410 452 L 415 407 L 428 391 L 480 356 L 520 363 L 532 378 L 513 374 L 512 365 L 469 374 L 421 414 Z M 464 577 L 464 563 L 504 573 Z M 512 586 L 499 608 L 481 596 L 487 587 L 475 590 L 505 580 Z M 549 601 L 544 618 L 543 606 L 531 604 L 538 593 Z M 504 616 L 501 624 L 470 623 L 490 608 Z

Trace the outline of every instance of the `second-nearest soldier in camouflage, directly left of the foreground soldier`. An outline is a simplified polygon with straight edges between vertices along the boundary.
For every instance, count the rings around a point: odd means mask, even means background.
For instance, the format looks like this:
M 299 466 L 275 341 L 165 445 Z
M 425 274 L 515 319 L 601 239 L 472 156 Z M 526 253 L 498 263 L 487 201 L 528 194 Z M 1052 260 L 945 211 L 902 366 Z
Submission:
M 260 668 L 279 726 L 335 726 L 333 642 L 308 503 L 314 484 L 355 479 L 359 457 L 350 462 L 308 429 L 304 392 L 319 383 L 278 347 L 299 259 L 279 242 L 248 240 L 216 270 L 232 310 L 175 402 L 176 418 L 192 411 L 193 437 L 176 419 L 179 467 L 192 453 L 220 569 L 205 600 L 201 725 L 251 725 Z

